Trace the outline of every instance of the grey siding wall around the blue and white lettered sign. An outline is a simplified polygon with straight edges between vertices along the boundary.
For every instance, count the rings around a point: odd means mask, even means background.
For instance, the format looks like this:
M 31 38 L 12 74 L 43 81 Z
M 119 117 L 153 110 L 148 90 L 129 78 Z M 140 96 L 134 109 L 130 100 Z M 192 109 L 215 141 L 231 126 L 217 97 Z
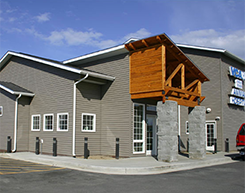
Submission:
M 245 71 L 245 66 L 229 59 L 222 57 L 221 80 L 222 80 L 222 118 L 223 118 L 223 141 L 229 138 L 230 150 L 236 150 L 236 134 L 239 127 L 244 123 L 245 108 L 237 105 L 228 104 L 229 94 L 234 87 L 234 77 L 229 76 L 229 66 Z M 243 82 L 243 91 L 244 91 Z

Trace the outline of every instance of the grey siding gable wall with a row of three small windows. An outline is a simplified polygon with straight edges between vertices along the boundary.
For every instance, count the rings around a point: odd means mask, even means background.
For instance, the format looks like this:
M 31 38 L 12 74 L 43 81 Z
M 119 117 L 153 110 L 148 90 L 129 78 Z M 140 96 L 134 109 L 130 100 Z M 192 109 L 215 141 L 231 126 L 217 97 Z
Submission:
M 35 93 L 30 103 L 29 122 L 25 123 L 25 127 L 29 127 L 29 151 L 35 151 L 35 139 L 39 137 L 44 141 L 43 153 L 52 153 L 52 140 L 56 137 L 57 153 L 72 154 L 73 80 L 79 78 L 77 74 L 17 57 L 2 69 L 1 81 L 12 82 Z M 21 114 L 24 111 L 27 113 L 28 110 L 20 108 L 19 118 L 26 117 Z M 14 116 L 14 111 L 11 113 Z M 43 115 L 49 113 L 54 114 L 54 128 L 53 131 L 43 131 Z M 69 113 L 68 131 L 57 131 L 57 113 Z M 34 114 L 41 115 L 40 131 L 31 131 L 31 116 Z M 23 146 L 19 143 L 17 148 Z

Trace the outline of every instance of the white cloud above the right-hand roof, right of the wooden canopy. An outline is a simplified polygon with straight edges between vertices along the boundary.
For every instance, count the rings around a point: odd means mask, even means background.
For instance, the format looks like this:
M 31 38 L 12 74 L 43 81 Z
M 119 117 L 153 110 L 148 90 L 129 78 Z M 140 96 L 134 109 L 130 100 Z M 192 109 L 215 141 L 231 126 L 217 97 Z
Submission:
M 214 29 L 172 35 L 176 43 L 222 48 L 245 59 L 245 30 L 219 32 Z

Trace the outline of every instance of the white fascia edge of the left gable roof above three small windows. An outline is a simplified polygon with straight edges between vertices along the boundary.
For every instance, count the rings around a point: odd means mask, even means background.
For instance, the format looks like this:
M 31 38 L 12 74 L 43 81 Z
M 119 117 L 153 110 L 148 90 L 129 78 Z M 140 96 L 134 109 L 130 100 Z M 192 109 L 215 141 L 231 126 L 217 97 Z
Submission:
M 113 76 L 109 76 L 109 75 L 105 75 L 105 74 L 101 74 L 98 72 L 92 72 L 89 70 L 84 70 L 84 69 L 80 69 L 80 68 L 76 68 L 73 66 L 68 66 L 63 64 L 62 62 L 58 62 L 58 61 L 54 61 L 54 60 L 49 60 L 46 58 L 41 58 L 38 56 L 33 56 L 33 55 L 28 55 L 28 54 L 23 54 L 23 53 L 17 53 L 17 52 L 13 52 L 13 51 L 8 51 L 0 60 L 0 69 L 3 68 L 7 62 L 10 60 L 11 57 L 16 56 L 16 57 L 20 57 L 20 58 L 24 58 L 27 60 L 31 60 L 31 61 L 35 61 L 38 63 L 42 63 L 48 66 L 52 66 L 55 68 L 59 68 L 62 70 L 66 70 L 69 72 L 73 72 L 76 74 L 82 74 L 82 75 L 86 75 L 88 74 L 89 76 L 95 77 L 95 78 L 100 78 L 100 79 L 104 79 L 104 80 L 109 80 L 109 81 L 113 81 L 115 80 L 115 77 Z

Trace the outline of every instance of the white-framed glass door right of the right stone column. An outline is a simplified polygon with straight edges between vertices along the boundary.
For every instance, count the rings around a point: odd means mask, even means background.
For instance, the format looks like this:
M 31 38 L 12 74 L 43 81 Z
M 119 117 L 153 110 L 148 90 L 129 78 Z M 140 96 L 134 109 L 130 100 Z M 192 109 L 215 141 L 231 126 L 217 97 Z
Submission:
M 214 151 L 214 139 L 217 139 L 216 123 L 207 121 L 205 125 L 207 134 L 206 150 Z

